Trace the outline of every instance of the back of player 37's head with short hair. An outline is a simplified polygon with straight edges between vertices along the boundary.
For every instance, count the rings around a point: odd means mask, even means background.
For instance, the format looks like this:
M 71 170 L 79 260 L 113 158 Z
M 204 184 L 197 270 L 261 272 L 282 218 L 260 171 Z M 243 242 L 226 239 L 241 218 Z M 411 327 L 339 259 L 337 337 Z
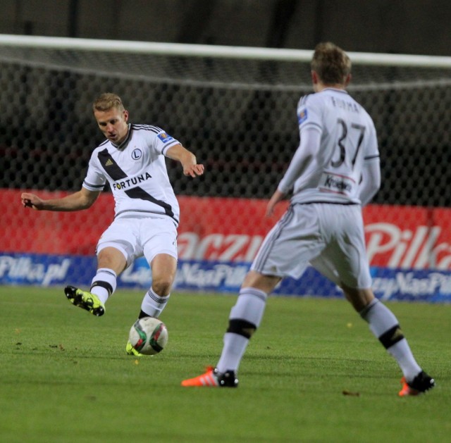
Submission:
M 323 85 L 343 85 L 351 73 L 351 60 L 337 45 L 323 42 L 315 47 L 311 70 L 318 74 Z

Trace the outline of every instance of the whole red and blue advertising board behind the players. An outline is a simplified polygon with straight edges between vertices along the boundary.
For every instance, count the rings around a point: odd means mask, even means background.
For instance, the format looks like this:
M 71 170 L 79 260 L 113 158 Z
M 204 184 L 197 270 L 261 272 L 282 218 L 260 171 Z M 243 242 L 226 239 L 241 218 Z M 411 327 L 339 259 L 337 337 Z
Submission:
M 61 193 L 44 197 L 55 195 Z M 113 220 L 111 195 L 101 194 L 92 208 L 78 213 L 20 208 L 16 190 L 1 191 L 0 201 L 5 200 L 19 207 L 0 221 L 0 283 L 89 287 L 97 239 Z M 265 200 L 180 196 L 179 202 L 174 289 L 221 292 L 238 291 L 266 232 L 288 206 L 280 204 L 273 218 L 265 218 Z M 451 301 L 450 209 L 369 205 L 364 223 L 378 298 Z M 149 266 L 140 258 L 118 285 L 145 289 L 151 281 Z M 308 268 L 299 280 L 283 280 L 276 294 L 339 297 L 340 289 Z

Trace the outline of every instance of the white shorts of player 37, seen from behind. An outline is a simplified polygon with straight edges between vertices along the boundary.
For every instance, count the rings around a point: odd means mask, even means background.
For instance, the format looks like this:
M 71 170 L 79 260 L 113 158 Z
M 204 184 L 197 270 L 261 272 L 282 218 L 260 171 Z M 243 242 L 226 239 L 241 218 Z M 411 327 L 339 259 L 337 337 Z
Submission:
M 371 287 L 359 205 L 290 206 L 266 235 L 251 269 L 299 278 L 309 264 L 336 285 Z

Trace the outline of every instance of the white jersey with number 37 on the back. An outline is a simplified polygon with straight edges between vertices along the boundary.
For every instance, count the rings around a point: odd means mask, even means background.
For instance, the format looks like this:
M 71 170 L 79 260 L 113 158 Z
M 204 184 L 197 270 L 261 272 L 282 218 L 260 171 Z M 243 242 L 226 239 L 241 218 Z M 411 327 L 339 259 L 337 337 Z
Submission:
M 364 162 L 379 156 L 369 114 L 345 90 L 326 88 L 299 100 L 297 118 L 300 148 L 312 130 L 319 146 L 307 146 L 308 156 L 298 149 L 278 189 L 293 189 L 292 203 L 360 204 Z

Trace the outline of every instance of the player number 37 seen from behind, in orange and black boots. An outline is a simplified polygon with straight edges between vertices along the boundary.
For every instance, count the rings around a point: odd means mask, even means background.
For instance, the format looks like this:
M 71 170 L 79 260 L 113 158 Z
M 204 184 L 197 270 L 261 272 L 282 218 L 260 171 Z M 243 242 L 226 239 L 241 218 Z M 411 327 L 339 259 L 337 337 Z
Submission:
M 301 277 L 310 264 L 339 285 L 373 335 L 402 370 L 400 396 L 434 386 L 416 363 L 397 318 L 374 297 L 364 243 L 362 206 L 380 187 L 376 130 L 368 113 L 345 88 L 350 58 L 332 43 L 316 46 L 311 61 L 314 94 L 297 108 L 300 144 L 268 201 L 266 216 L 291 189 L 284 216 L 268 232 L 230 311 L 216 368 L 183 386 L 236 387 L 237 370 L 278 282 Z

